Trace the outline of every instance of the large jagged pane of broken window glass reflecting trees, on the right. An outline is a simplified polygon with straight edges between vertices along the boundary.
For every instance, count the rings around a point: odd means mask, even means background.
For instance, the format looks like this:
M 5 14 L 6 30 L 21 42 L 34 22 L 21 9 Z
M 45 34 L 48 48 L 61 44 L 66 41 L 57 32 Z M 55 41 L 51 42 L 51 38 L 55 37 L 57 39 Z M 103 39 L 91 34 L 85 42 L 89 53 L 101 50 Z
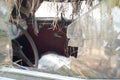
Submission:
M 120 78 L 120 8 L 100 3 L 67 28 L 68 46 L 78 47 L 71 68 L 83 78 Z

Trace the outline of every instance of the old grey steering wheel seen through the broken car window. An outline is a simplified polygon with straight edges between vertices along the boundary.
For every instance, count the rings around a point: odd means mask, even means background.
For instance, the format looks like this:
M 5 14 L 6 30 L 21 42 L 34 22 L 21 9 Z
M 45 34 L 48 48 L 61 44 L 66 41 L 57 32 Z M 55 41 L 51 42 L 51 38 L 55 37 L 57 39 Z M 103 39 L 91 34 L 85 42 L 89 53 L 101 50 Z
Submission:
M 32 47 L 32 50 L 33 50 L 33 53 L 34 53 L 34 61 L 35 61 L 35 64 L 33 64 L 28 58 L 27 56 L 25 56 L 24 52 L 22 51 L 22 48 L 21 48 L 21 45 L 16 41 L 16 40 L 13 40 L 13 52 L 15 53 L 14 55 L 21 58 L 24 62 L 26 62 L 26 64 L 30 67 L 35 67 L 37 68 L 38 67 L 38 60 L 39 60 L 39 56 L 38 56 L 38 50 L 36 48 L 36 45 L 32 39 L 32 37 L 29 35 L 29 33 L 27 32 L 27 30 L 25 30 L 21 25 L 15 23 L 15 25 L 17 26 L 17 28 L 19 28 L 23 34 L 25 35 L 25 37 L 28 39 L 31 47 Z

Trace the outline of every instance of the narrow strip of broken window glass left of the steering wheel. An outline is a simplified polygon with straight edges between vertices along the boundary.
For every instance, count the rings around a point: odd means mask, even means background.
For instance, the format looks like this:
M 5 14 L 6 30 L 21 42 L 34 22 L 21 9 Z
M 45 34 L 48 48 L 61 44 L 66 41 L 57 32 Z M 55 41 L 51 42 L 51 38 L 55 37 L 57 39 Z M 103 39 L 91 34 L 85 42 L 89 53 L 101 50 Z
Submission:
M 0 65 L 10 65 L 12 47 L 8 31 L 10 7 L 5 0 L 0 0 Z

